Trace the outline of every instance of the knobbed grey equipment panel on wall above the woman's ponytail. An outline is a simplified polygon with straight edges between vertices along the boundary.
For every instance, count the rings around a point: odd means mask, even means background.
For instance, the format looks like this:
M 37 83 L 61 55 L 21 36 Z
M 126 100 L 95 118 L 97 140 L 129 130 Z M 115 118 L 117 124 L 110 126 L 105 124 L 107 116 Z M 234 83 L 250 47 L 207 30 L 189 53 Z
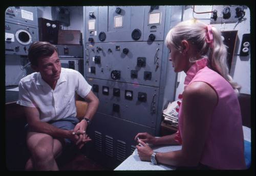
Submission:
M 234 23 L 240 21 L 244 15 L 246 6 L 212 6 L 210 24 Z

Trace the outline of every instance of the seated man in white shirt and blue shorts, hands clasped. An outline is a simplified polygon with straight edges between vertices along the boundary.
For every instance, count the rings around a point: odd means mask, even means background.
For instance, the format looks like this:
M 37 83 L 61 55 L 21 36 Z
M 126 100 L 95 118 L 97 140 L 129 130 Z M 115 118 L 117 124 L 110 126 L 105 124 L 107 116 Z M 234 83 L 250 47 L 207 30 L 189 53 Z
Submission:
M 65 144 L 81 148 L 91 139 L 86 135 L 99 100 L 76 70 L 61 68 L 57 48 L 48 42 L 34 42 L 28 58 L 36 71 L 19 82 L 17 104 L 24 106 L 28 122 L 27 145 L 31 158 L 27 170 L 58 170 L 55 158 Z M 88 104 L 86 114 L 76 118 L 75 92 Z

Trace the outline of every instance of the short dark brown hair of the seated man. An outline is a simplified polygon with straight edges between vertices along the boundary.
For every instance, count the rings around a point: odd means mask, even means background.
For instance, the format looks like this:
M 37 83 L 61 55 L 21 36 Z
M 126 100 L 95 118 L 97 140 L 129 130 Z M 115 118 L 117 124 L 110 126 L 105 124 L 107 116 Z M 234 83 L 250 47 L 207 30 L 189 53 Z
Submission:
M 57 52 L 57 47 L 46 41 L 33 42 L 28 50 L 28 58 L 31 65 L 38 66 L 38 59 L 52 56 Z

